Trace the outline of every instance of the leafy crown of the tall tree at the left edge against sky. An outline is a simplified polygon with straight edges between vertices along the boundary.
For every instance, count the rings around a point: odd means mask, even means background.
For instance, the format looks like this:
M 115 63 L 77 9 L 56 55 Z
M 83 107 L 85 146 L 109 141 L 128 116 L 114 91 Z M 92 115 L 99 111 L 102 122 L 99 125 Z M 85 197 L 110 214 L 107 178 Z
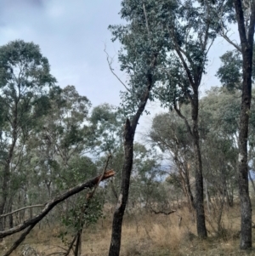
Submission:
M 1 120 L 12 125 L 17 119 L 16 125 L 26 132 L 38 118 L 39 111 L 33 111 L 32 107 L 40 105 L 40 111 L 44 111 L 47 105 L 38 103 L 46 98 L 48 87 L 54 82 L 48 60 L 38 45 L 17 40 L 0 47 Z

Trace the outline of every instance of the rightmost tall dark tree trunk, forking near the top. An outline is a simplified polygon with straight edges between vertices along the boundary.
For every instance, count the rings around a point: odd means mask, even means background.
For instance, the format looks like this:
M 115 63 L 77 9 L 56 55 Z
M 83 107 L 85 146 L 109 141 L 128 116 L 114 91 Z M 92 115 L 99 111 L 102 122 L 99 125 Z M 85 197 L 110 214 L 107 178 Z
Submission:
M 252 205 L 249 196 L 247 139 L 249 111 L 252 98 L 252 54 L 255 24 L 255 3 L 251 2 L 251 16 L 246 33 L 245 20 L 241 0 L 235 0 L 235 14 L 241 39 L 241 54 L 243 59 L 243 82 L 241 96 L 240 132 L 239 132 L 239 193 L 241 200 L 241 249 L 252 247 Z

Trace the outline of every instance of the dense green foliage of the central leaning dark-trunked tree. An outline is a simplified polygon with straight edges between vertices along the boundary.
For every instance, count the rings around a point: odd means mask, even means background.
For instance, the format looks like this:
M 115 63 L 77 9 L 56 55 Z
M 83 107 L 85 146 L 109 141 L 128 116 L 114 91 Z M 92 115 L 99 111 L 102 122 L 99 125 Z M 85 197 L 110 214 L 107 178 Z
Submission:
M 155 5 L 153 1 L 144 4 L 146 9 Z M 155 26 L 155 15 L 148 15 L 149 26 L 146 25 L 143 4 L 122 1 L 121 15 L 122 19 L 127 20 L 127 25 L 109 26 L 109 29 L 113 35 L 112 41 L 118 40 L 122 44 L 119 62 L 121 70 L 126 71 L 128 76 L 127 91 L 121 92 L 122 112 L 132 117 L 139 105 L 144 104 L 148 79 L 152 79 L 152 86 L 157 81 L 155 61 L 161 59 L 165 50 L 161 47 L 163 35 L 160 27 Z M 150 100 L 153 100 L 152 94 Z

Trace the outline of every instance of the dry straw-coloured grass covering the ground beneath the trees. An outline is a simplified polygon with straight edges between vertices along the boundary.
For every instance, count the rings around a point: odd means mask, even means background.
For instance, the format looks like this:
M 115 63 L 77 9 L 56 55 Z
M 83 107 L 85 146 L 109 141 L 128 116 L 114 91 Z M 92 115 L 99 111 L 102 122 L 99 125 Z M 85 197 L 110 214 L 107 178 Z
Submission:
M 84 230 L 82 234 L 82 255 L 99 256 L 108 255 L 111 241 L 111 216 L 99 220 L 97 225 Z M 209 237 L 201 241 L 195 236 L 195 225 L 192 223 L 187 208 L 182 208 L 177 213 L 161 215 L 154 213 L 127 214 L 122 229 L 121 255 L 173 255 L 173 256 L 219 256 L 219 255 L 255 255 L 255 250 L 243 252 L 239 250 L 240 218 L 239 206 L 224 211 L 222 230 L 217 232 L 217 214 L 207 215 L 207 229 Z M 179 218 L 182 217 L 179 226 Z M 61 247 L 65 244 L 59 239 L 59 225 L 45 225 L 31 231 L 26 241 L 13 253 L 21 255 L 25 247 L 35 249 L 38 255 L 63 252 Z M 255 236 L 255 229 L 253 237 Z M 68 237 L 71 241 L 71 237 Z M 6 240 L 8 247 L 14 238 Z M 255 244 L 255 238 L 253 241 Z M 0 245 L 1 246 L 1 245 Z M 3 251 L 0 247 L 0 251 Z M 1 254 L 0 254 L 1 255 Z

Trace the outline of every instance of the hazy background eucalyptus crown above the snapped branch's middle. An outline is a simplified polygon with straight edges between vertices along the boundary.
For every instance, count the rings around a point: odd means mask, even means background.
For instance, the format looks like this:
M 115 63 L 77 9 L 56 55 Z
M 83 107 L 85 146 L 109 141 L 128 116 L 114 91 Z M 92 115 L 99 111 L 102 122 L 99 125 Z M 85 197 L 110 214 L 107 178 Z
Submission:
M 74 86 L 67 86 L 51 89 L 44 104 L 48 105 L 48 111 L 31 131 L 26 146 L 31 172 L 37 170 L 37 182 L 46 186 L 47 197 L 51 197 L 56 189 L 71 185 L 65 174 L 71 171 L 73 158 L 89 151 L 90 101 L 78 94 Z

